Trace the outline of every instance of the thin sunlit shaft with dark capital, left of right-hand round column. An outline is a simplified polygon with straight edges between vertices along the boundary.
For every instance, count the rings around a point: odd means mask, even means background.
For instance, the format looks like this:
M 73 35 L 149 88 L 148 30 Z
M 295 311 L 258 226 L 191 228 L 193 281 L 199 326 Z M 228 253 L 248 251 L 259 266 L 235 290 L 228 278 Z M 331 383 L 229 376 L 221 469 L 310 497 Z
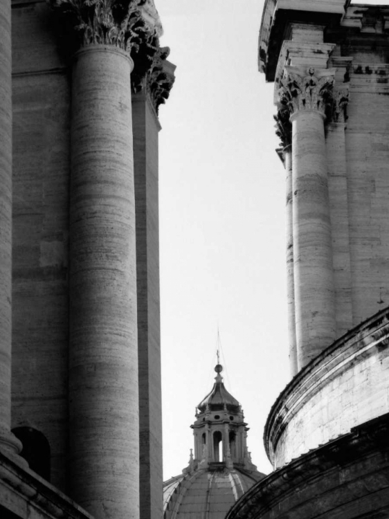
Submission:
M 287 309 L 289 336 L 289 369 L 291 376 L 298 372 L 296 346 L 296 310 L 294 301 L 294 264 L 293 264 L 293 186 L 292 186 L 292 152 L 291 152 L 291 122 L 289 110 L 278 111 L 275 116 L 276 134 L 281 139 L 282 160 L 285 167 L 286 187 L 286 235 L 287 235 Z

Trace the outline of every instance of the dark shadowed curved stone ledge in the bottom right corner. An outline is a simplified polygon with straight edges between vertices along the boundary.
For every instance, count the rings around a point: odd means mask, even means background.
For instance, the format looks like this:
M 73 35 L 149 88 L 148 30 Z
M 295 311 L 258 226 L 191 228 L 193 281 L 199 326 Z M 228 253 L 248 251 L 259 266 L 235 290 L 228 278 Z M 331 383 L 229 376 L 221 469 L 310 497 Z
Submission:
M 298 459 L 293 459 L 291 463 L 274 471 L 246 492 L 230 509 L 226 519 L 283 518 L 285 517 L 284 514 L 291 511 L 292 507 L 294 517 L 299 511 L 296 503 L 298 506 L 305 504 L 309 488 L 312 489 L 311 495 L 314 496 L 313 501 L 316 504 L 311 509 L 312 516 L 317 517 L 317 504 L 318 502 L 322 504 L 320 491 L 325 493 L 326 496 L 323 500 L 324 507 L 327 504 L 331 511 L 334 511 L 334 505 L 339 503 L 335 499 L 329 498 L 329 492 L 334 491 L 334 493 L 338 492 L 344 495 L 346 502 L 347 499 L 350 500 L 344 487 L 347 482 L 353 484 L 354 471 L 352 467 L 359 466 L 359 469 L 362 467 L 365 473 L 361 475 L 366 475 L 369 472 L 369 467 L 363 461 L 370 459 L 373 460 L 371 466 L 373 473 L 375 473 L 377 465 L 374 464 L 374 459 L 377 459 L 377 456 L 381 460 L 383 459 L 383 463 L 388 466 L 388 433 L 389 414 L 352 428 L 347 434 L 311 450 Z M 345 467 L 344 477 L 341 478 L 341 483 L 339 483 L 338 473 L 343 467 Z M 336 484 L 330 490 L 329 477 L 327 476 L 334 470 L 337 475 Z M 374 490 L 381 490 L 382 488 L 383 491 L 387 492 L 385 488 L 387 482 L 384 477 L 381 477 L 381 480 L 376 480 L 375 484 L 377 488 L 366 489 L 368 493 L 374 493 Z M 361 482 L 358 479 L 356 479 L 354 491 L 356 495 L 361 493 Z M 297 496 L 296 502 L 293 502 L 294 495 Z M 304 495 L 304 499 L 301 499 L 302 495 Z M 322 510 L 320 509 L 320 511 Z M 302 515 L 302 517 L 306 517 L 306 515 Z

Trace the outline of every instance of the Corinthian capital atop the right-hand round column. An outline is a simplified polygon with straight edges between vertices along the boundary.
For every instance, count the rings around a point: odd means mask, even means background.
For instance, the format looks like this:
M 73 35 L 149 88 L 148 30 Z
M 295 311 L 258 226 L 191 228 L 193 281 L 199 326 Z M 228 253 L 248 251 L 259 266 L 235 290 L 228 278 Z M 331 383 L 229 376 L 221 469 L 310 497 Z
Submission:
M 317 110 L 325 114 L 332 106 L 335 69 L 302 69 L 286 66 L 278 92 L 280 104 L 290 113 Z

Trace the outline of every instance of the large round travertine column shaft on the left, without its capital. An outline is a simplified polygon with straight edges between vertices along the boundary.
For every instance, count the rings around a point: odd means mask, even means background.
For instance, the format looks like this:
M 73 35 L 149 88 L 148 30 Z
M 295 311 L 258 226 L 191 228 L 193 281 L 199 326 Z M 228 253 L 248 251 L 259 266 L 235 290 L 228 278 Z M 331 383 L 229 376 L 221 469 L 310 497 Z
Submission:
M 73 64 L 69 482 L 100 519 L 139 510 L 131 70 L 106 45 Z

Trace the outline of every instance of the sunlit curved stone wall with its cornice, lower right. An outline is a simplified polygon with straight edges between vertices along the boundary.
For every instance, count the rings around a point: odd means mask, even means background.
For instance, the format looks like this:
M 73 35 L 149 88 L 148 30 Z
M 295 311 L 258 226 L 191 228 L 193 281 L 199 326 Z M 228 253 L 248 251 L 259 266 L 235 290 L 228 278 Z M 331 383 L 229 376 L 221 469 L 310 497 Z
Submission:
M 314 358 L 287 385 L 264 431 L 274 468 L 389 412 L 389 308 Z

